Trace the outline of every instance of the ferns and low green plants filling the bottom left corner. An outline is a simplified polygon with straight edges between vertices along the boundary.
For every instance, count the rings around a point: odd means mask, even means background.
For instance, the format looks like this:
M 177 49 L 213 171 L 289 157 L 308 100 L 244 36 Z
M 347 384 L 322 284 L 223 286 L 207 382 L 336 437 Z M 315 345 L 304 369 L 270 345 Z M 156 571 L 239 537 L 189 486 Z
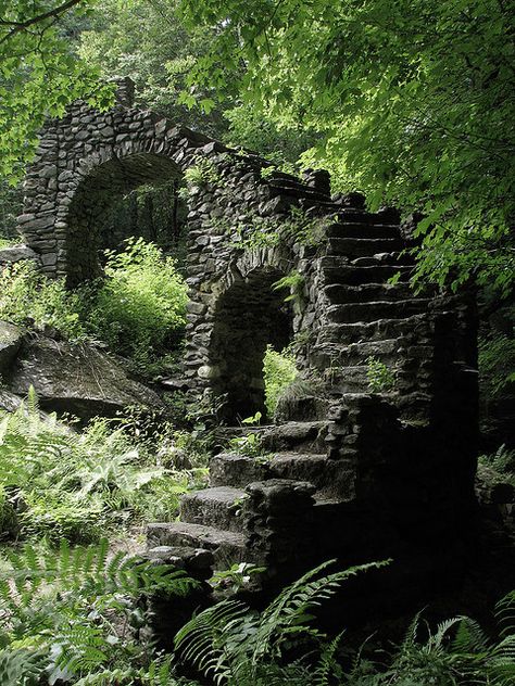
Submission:
M 5 550 L 0 567 L 0 676 L 4 686 L 59 682 L 178 685 L 171 659 L 145 638 L 152 595 L 185 596 L 196 582 L 108 542 Z

